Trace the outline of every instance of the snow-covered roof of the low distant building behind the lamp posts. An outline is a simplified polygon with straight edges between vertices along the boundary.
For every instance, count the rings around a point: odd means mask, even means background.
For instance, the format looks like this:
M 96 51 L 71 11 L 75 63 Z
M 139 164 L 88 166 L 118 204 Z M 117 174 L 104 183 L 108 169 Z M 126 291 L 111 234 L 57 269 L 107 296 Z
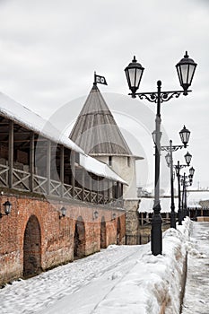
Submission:
M 142 197 L 140 200 L 138 212 L 152 213 L 154 199 L 152 197 Z M 179 199 L 175 197 L 174 203 L 175 212 L 177 212 L 179 208 Z M 170 213 L 170 197 L 161 197 L 161 213 Z

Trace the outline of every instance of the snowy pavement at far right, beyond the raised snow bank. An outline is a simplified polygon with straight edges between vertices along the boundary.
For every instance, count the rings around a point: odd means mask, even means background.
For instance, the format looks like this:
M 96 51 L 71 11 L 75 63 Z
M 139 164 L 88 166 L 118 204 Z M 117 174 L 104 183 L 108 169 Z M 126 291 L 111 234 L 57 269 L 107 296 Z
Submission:
M 209 313 L 209 222 L 194 222 L 182 314 Z

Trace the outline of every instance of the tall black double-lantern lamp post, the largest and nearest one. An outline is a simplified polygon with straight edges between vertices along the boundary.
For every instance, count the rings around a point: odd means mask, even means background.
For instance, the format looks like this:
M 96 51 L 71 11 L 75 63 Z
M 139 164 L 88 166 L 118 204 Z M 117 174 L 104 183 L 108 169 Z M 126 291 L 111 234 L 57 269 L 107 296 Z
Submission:
M 161 240 L 161 204 L 160 204 L 160 152 L 161 152 L 161 103 L 169 101 L 174 96 L 179 97 L 180 94 L 187 95 L 188 87 L 192 83 L 193 76 L 196 70 L 196 63 L 194 60 L 186 55 L 176 65 L 179 75 L 179 82 L 183 91 L 161 91 L 161 81 L 157 82 L 157 92 L 139 92 L 136 93 L 139 84 L 142 80 L 144 73 L 144 67 L 137 63 L 137 60 L 133 61 L 126 66 L 126 80 L 128 87 L 131 91 L 129 95 L 132 98 L 138 96 L 141 100 L 146 99 L 157 104 L 157 113 L 155 119 L 155 175 L 154 175 L 154 204 L 152 215 L 152 231 L 151 231 L 151 250 L 153 255 L 161 254 L 162 240 Z

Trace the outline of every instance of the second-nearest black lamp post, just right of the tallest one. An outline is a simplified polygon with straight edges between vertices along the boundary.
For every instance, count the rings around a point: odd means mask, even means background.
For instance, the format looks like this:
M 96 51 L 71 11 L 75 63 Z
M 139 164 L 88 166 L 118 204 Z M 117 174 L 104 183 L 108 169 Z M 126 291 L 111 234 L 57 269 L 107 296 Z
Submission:
M 179 150 L 179 148 L 186 148 L 187 143 L 190 136 L 190 131 L 187 130 L 186 126 L 179 132 L 181 142 L 183 145 L 172 145 L 172 140 L 170 140 L 169 146 L 161 146 L 161 151 L 169 152 L 165 156 L 168 166 L 170 167 L 170 197 L 171 197 L 171 205 L 170 205 L 170 228 L 176 227 L 176 213 L 175 213 L 175 203 L 174 203 L 174 188 L 173 188 L 173 152 Z

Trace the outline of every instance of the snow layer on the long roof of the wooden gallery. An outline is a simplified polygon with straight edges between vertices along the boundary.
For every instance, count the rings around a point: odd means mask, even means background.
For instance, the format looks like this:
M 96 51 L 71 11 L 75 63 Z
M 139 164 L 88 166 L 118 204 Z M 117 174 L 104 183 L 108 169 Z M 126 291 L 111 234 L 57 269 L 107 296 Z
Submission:
M 41 118 L 30 109 L 22 106 L 17 101 L 12 100 L 2 92 L 0 92 L 0 115 L 13 120 L 21 126 L 29 128 L 39 135 L 47 137 L 55 143 L 63 144 L 65 147 L 80 153 L 82 162 L 81 166 L 91 173 L 126 184 L 126 182 L 121 179 L 116 172 L 111 170 L 108 165 L 87 156 L 83 152 L 83 149 L 77 144 L 74 144 L 74 142 L 66 135 L 58 131 L 56 126 L 53 126 L 50 122 Z

